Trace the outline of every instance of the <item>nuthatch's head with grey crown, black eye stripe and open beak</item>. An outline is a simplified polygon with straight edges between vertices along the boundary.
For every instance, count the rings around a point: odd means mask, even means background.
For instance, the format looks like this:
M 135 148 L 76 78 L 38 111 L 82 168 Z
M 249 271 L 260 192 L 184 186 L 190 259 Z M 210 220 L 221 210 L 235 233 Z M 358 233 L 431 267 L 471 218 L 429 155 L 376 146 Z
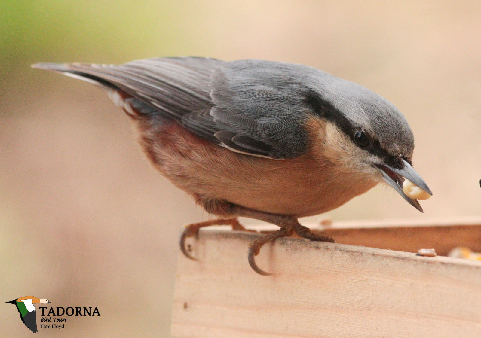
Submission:
M 360 179 L 385 182 L 420 212 L 418 200 L 403 191 L 405 179 L 432 195 L 412 167 L 414 136 L 403 114 L 388 100 L 353 82 L 333 83 L 307 95 L 323 121 L 321 151 Z M 353 182 L 356 184 L 356 182 Z

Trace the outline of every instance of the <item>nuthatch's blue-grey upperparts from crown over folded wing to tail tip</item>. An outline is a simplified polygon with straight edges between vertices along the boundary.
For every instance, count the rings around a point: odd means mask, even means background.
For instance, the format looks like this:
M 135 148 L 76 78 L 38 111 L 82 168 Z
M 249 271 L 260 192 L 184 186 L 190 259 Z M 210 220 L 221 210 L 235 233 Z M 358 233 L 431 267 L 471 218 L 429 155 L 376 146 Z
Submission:
M 132 95 L 145 113 L 163 114 L 232 150 L 275 159 L 308 150 L 304 125 L 328 118 L 352 137 L 362 128 L 389 155 L 414 148 L 404 116 L 368 89 L 312 67 L 262 60 L 158 58 L 122 65 L 38 64 Z

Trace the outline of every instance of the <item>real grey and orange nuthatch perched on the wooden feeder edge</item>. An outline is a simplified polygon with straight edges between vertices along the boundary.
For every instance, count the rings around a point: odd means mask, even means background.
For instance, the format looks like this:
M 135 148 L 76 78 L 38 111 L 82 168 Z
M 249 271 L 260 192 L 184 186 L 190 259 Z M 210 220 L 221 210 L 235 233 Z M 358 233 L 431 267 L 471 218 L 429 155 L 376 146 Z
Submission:
M 403 182 L 432 195 L 412 167 L 414 136 L 388 100 L 316 68 L 266 60 L 165 57 L 124 64 L 36 63 L 106 90 L 131 117 L 152 165 L 217 218 L 187 225 L 245 230 L 238 217 L 278 225 L 249 245 L 296 233 L 333 242 L 299 217 L 333 210 L 387 183 L 422 212 Z

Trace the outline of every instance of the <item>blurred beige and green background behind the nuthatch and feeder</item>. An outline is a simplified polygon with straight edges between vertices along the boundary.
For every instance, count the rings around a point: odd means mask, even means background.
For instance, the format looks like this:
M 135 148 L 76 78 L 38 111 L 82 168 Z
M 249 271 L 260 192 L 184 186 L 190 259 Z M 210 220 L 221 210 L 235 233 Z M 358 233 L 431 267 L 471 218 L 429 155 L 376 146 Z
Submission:
M 105 93 L 31 63 L 258 58 L 352 80 L 405 114 L 434 196 L 421 214 L 374 188 L 329 217 L 447 219 L 481 215 L 480 33 L 479 1 L 2 0 L 2 335 L 31 337 L 3 301 L 33 295 L 101 313 L 41 335 L 169 337 L 180 227 L 208 217 Z

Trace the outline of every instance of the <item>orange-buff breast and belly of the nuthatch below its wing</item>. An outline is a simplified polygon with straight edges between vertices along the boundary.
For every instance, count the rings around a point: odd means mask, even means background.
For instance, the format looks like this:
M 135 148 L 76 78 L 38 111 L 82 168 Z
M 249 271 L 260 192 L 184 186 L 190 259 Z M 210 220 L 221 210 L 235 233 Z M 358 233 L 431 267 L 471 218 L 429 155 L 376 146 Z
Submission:
M 140 144 L 154 166 L 178 188 L 201 200 L 227 200 L 302 217 L 335 209 L 376 184 L 360 181 L 347 170 L 340 172 L 333 163 L 310 154 L 273 160 L 236 153 L 176 122 L 139 121 L 139 131 Z

